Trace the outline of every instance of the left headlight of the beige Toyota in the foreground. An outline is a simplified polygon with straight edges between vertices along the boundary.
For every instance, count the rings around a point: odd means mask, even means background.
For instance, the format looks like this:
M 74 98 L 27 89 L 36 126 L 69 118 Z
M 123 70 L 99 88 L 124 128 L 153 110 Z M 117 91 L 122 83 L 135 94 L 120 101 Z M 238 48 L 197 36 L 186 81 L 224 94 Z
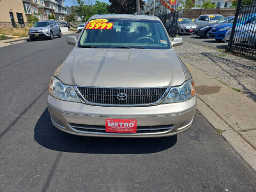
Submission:
M 53 77 L 49 84 L 49 93 L 60 100 L 81 102 L 73 86 L 63 84 L 58 78 Z

